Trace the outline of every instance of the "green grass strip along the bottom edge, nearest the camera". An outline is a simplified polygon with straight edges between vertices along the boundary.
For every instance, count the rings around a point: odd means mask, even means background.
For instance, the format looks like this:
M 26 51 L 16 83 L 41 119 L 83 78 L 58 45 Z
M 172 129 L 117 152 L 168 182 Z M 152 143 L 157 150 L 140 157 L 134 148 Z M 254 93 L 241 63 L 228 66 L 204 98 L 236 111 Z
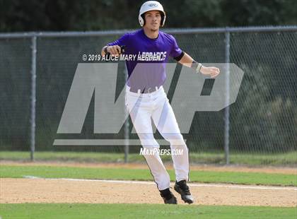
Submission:
M 2 219 L 35 218 L 296 218 L 297 208 L 163 204 L 0 204 Z

